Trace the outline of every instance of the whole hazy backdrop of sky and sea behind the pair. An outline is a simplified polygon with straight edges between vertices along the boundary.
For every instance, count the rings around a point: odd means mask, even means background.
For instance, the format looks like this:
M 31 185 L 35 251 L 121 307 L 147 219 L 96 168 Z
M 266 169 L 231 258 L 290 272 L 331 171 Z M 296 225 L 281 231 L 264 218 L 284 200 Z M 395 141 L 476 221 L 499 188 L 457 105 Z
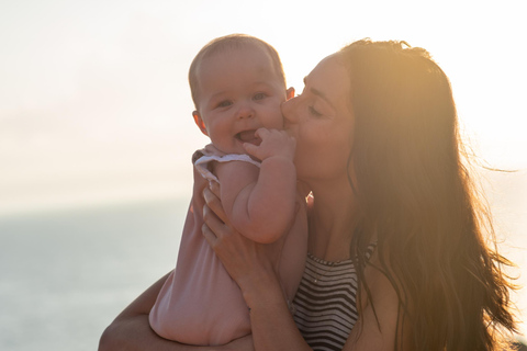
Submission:
M 191 118 L 188 68 L 231 33 L 273 45 L 299 91 L 355 39 L 428 49 L 480 165 L 515 171 L 479 169 L 525 285 L 523 2 L 2 1 L 0 349 L 94 350 L 116 314 L 173 267 L 190 156 L 208 143 Z M 525 291 L 513 299 L 527 308 Z

